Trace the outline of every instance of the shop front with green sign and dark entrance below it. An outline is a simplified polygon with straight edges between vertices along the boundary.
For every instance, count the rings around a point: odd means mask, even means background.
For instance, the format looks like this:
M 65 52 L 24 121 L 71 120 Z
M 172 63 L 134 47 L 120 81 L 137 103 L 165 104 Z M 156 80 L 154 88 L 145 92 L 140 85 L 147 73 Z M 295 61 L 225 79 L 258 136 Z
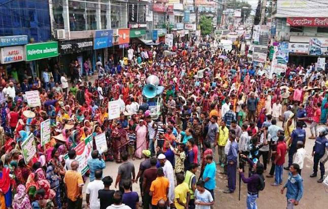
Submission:
M 25 58 L 32 71 L 33 78 L 39 77 L 41 71 L 53 70 L 58 64 L 58 42 L 45 42 L 25 45 Z

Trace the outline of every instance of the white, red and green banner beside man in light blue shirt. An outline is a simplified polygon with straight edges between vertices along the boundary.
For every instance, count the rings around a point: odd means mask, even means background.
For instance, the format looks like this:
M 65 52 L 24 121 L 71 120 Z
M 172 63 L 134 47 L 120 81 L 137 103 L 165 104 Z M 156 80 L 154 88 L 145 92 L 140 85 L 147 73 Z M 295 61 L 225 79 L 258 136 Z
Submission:
M 74 147 L 74 150 L 76 151 L 75 160 L 79 162 L 78 172 L 81 172 L 81 174 L 84 175 L 89 170 L 88 159 L 91 158 L 92 153 L 92 135 L 89 135 L 81 141 L 76 147 Z M 68 158 L 69 155 L 66 154 L 64 159 L 66 160 Z

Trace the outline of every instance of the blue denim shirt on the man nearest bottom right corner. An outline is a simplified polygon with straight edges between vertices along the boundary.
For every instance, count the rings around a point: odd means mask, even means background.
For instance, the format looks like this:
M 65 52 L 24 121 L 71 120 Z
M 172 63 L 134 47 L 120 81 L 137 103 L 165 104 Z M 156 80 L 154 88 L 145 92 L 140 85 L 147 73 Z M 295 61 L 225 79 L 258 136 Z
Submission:
M 287 199 L 294 199 L 300 201 L 303 196 L 303 178 L 300 174 L 293 176 L 291 172 L 288 174 L 288 181 L 286 182 L 285 188 L 287 188 L 286 197 Z

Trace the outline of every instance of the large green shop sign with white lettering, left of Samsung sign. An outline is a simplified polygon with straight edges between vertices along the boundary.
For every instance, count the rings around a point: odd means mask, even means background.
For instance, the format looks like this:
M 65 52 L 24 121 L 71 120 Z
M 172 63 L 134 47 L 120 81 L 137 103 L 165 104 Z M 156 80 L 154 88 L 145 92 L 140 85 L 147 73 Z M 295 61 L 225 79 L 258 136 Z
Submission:
M 45 42 L 26 45 L 26 61 L 58 56 L 58 42 Z

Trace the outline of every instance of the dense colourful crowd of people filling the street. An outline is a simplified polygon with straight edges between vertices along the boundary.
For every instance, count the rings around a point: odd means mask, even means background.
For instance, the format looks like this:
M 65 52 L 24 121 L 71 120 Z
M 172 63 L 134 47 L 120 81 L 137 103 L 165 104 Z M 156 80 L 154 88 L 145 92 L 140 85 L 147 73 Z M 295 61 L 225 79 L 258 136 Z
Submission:
M 48 69 L 35 82 L 1 78 L 0 208 L 81 208 L 89 177 L 86 203 L 92 209 L 135 209 L 139 202 L 145 209 L 207 209 L 214 205 L 220 167 L 227 175 L 224 193 L 235 192 L 239 172 L 248 184 L 247 208 L 257 208 L 270 161 L 272 186 L 282 185 L 283 169 L 290 171 L 281 193 L 287 188 L 287 207 L 293 208 L 303 195 L 307 125 L 315 140 L 311 177 L 320 164 L 323 181 L 328 140 L 318 126 L 327 123 L 328 80 L 313 66 L 290 65 L 285 75 L 269 79 L 236 50 L 182 43 L 170 53 L 130 48 L 117 65 L 100 62 L 97 70 L 94 83 L 76 73 L 71 87 L 64 73 L 54 82 Z M 142 93 L 150 75 L 165 88 L 157 95 L 158 117 L 149 110 L 156 101 Z M 40 92 L 41 106 L 28 106 L 25 92 L 31 90 Z M 114 120 L 108 119 L 110 101 L 120 106 Z M 40 124 L 48 119 L 51 140 L 41 146 Z M 26 162 L 21 143 L 30 133 L 37 153 Z M 107 149 L 97 150 L 94 137 L 102 133 Z M 76 147 L 90 135 L 89 170 L 82 175 Z M 144 158 L 137 175 L 136 158 Z M 121 163 L 116 178 L 103 173 L 106 161 Z M 110 188 L 113 181 L 117 191 Z M 132 191 L 138 181 L 141 197 Z

